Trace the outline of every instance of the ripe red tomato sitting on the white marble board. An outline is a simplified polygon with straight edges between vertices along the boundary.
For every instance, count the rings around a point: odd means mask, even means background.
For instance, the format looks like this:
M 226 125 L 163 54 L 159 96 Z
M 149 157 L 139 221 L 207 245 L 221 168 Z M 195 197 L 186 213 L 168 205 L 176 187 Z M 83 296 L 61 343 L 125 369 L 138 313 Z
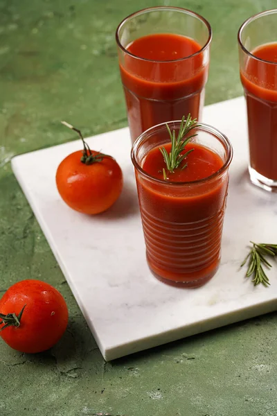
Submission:
M 67 156 L 57 168 L 56 184 L 69 207 L 84 214 L 99 214 L 116 202 L 123 188 L 120 166 L 110 156 L 93 150 L 94 162 L 81 162 L 84 150 Z M 89 153 L 86 160 L 89 158 Z

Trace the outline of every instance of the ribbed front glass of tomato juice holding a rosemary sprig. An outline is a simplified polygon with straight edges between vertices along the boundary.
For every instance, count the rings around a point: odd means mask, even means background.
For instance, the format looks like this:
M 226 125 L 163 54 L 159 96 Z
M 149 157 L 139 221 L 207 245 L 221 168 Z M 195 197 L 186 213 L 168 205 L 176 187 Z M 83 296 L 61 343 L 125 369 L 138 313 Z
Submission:
M 180 123 L 171 121 L 168 126 L 178 132 Z M 220 264 L 233 150 L 209 125 L 199 124 L 195 132 L 186 146 L 194 148 L 188 166 L 170 180 L 163 180 L 159 150 L 171 148 L 166 123 L 143 132 L 132 147 L 148 265 L 158 279 L 175 286 L 202 286 Z

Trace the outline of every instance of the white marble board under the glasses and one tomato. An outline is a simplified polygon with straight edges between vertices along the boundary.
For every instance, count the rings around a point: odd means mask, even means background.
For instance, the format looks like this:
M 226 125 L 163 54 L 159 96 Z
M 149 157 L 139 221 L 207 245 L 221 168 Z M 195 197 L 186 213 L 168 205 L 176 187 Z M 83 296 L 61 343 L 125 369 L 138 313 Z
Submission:
M 197 289 L 163 284 L 148 269 L 127 128 L 87 139 L 91 148 L 116 158 L 125 178 L 116 205 L 98 216 L 71 210 L 55 187 L 58 164 L 80 149 L 80 140 L 12 159 L 17 180 L 107 361 L 277 309 L 277 266 L 269 271 L 269 288 L 254 287 L 244 278 L 245 268 L 240 270 L 249 240 L 277 239 L 277 194 L 248 180 L 244 98 L 208 105 L 203 121 L 231 139 L 234 157 L 220 270 Z

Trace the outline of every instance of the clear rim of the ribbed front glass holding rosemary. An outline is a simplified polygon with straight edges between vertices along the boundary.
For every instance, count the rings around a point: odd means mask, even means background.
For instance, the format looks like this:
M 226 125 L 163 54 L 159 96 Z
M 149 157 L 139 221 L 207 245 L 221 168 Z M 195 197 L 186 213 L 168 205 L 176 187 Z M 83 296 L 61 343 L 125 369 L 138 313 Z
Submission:
M 143 176 L 148 177 L 148 179 L 157 182 L 158 184 L 163 184 L 163 185 L 174 185 L 175 187 L 184 187 L 185 185 L 198 185 L 198 184 L 204 184 L 206 182 L 209 182 L 213 179 L 215 179 L 215 177 L 221 175 L 222 173 L 224 173 L 224 171 L 226 171 L 226 169 L 229 167 L 229 165 L 231 164 L 231 161 L 233 159 L 233 146 L 231 145 L 231 141 L 228 139 L 228 137 L 226 137 L 226 135 L 224 135 L 222 132 L 220 132 L 220 130 L 217 130 L 217 128 L 214 128 L 212 125 L 206 124 L 206 123 L 197 123 L 197 128 L 202 128 L 202 130 L 212 133 L 213 135 L 216 135 L 217 139 L 220 139 L 221 143 L 224 144 L 225 148 L 227 149 L 228 152 L 228 157 L 226 159 L 226 162 L 224 162 L 223 166 L 218 169 L 218 171 L 216 171 L 215 173 L 213 173 L 212 175 L 209 175 L 207 177 L 203 177 L 202 179 L 198 179 L 198 180 L 193 180 L 193 181 L 186 181 L 186 182 L 172 182 L 172 181 L 167 181 L 165 182 L 164 180 L 158 179 L 157 177 L 154 177 L 152 175 L 150 175 L 150 173 L 147 173 L 146 171 L 143 170 L 143 168 L 139 165 L 138 162 L 136 162 L 136 155 L 135 152 L 139 146 L 139 144 L 141 143 L 141 140 L 143 139 L 143 137 L 145 135 L 148 135 L 149 132 L 151 132 L 152 130 L 154 130 L 155 128 L 159 128 L 161 126 L 164 126 L 166 124 L 168 124 L 170 126 L 170 124 L 174 124 L 174 123 L 181 123 L 181 120 L 175 120 L 175 121 L 168 121 L 166 123 L 160 123 L 157 125 L 153 125 L 152 127 L 148 128 L 148 130 L 145 130 L 143 133 L 141 133 L 141 135 L 139 135 L 139 137 L 134 141 L 134 144 L 132 145 L 132 149 L 131 149 L 131 159 L 132 159 L 132 164 L 134 165 L 134 168 L 137 169 L 137 171 L 139 171 L 139 173 L 141 173 Z M 170 141 L 169 141 L 170 143 Z

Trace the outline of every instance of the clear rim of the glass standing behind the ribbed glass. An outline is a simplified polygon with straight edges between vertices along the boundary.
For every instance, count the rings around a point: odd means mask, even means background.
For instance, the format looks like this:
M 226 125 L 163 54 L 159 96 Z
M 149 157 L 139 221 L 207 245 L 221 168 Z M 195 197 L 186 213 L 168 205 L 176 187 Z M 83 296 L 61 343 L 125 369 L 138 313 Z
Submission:
M 179 12 L 183 12 L 187 15 L 191 15 L 194 17 L 197 17 L 197 19 L 201 20 L 206 27 L 208 28 L 208 40 L 206 41 L 206 43 L 204 44 L 204 46 L 202 46 L 201 49 L 199 49 L 199 51 L 192 53 L 189 56 L 186 56 L 184 58 L 178 58 L 178 59 L 173 59 L 173 60 L 152 60 L 152 59 L 148 59 L 148 58 L 141 58 L 140 56 L 134 55 L 134 53 L 129 52 L 124 46 L 123 44 L 121 44 L 120 40 L 119 40 L 119 31 L 120 28 L 122 28 L 122 26 L 125 24 L 126 21 L 128 21 L 130 18 L 136 16 L 136 15 L 142 15 L 145 12 L 151 12 L 151 11 L 155 11 L 155 10 L 173 10 L 173 11 L 179 11 Z M 129 56 L 132 56 L 132 58 L 136 58 L 145 62 L 157 62 L 157 63 L 167 63 L 167 62 L 179 62 L 179 61 L 183 61 L 186 59 L 190 59 L 192 57 L 195 57 L 196 55 L 199 55 L 200 53 L 202 53 L 205 49 L 208 48 L 209 44 L 211 43 L 213 37 L 213 31 L 211 28 L 211 25 L 208 23 L 208 20 L 206 20 L 204 17 L 202 17 L 201 15 L 198 15 L 198 13 L 195 13 L 191 10 L 185 9 L 185 8 L 181 8 L 181 7 L 175 7 L 175 6 L 155 6 L 155 7 L 149 7 L 149 8 L 144 8 L 141 9 L 137 12 L 132 13 L 131 15 L 128 15 L 127 17 L 125 17 L 125 19 L 123 19 L 122 21 L 120 21 L 120 24 L 118 24 L 117 28 L 116 28 L 116 43 L 118 45 L 118 47 L 125 53 L 127 53 Z

